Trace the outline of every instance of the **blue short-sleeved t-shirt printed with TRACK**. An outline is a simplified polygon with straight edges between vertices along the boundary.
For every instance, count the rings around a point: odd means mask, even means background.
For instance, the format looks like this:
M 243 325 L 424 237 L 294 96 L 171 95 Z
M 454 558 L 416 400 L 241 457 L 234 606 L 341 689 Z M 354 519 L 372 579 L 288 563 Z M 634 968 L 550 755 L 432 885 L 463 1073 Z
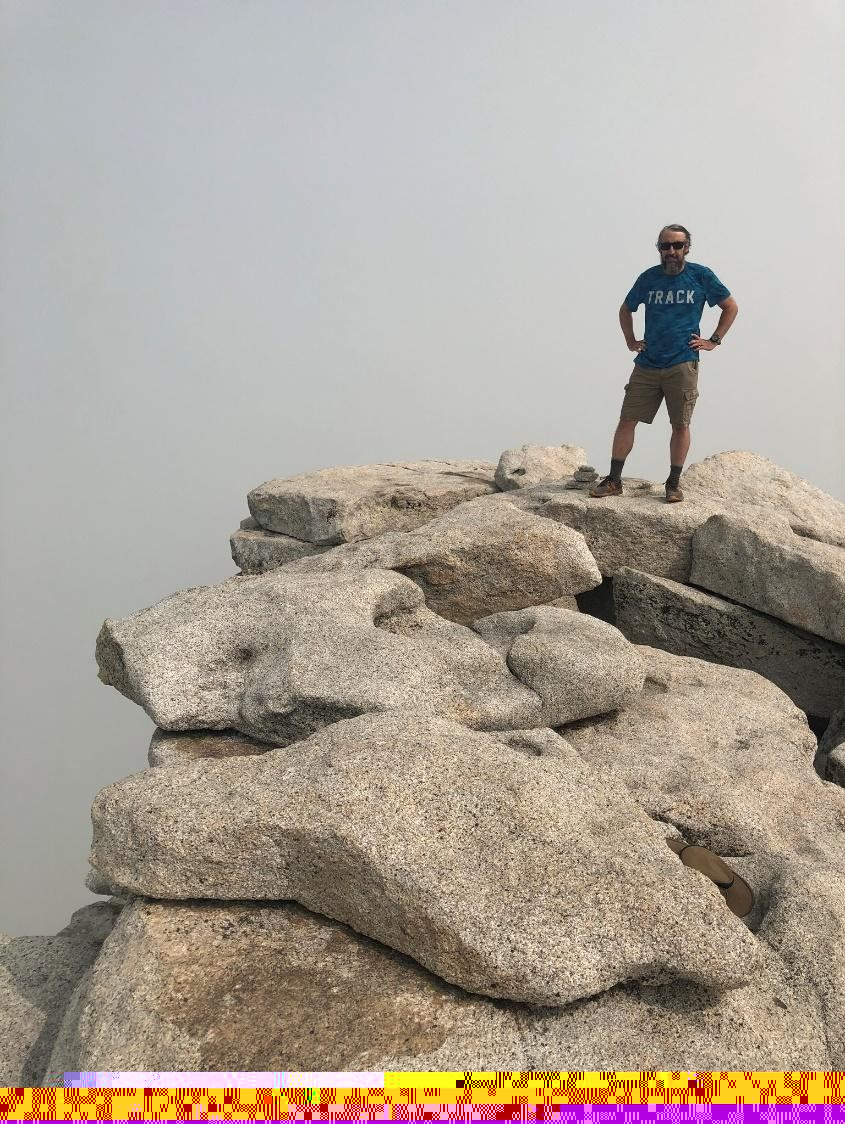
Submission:
M 645 351 L 635 365 L 655 369 L 698 359 L 689 342 L 700 330 L 705 302 L 712 307 L 729 296 L 712 270 L 694 262 L 685 262 L 674 277 L 662 265 L 640 273 L 625 298 L 632 312 L 645 305 Z

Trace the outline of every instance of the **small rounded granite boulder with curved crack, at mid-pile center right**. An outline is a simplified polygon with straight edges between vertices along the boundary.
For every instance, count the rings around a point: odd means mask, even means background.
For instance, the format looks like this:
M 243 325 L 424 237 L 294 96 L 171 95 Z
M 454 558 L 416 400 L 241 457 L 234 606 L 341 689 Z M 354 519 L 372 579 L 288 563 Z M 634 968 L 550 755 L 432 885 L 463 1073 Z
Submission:
M 482 617 L 473 628 L 539 695 L 547 726 L 620 709 L 643 689 L 639 653 L 596 617 L 540 605 Z

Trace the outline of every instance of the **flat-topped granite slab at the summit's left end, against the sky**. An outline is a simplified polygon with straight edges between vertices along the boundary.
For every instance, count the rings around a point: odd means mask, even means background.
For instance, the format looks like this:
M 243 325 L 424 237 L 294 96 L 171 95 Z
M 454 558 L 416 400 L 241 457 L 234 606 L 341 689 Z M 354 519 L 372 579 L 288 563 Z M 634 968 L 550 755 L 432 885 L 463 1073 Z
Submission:
M 269 480 L 247 501 L 265 531 L 333 545 L 420 527 L 496 491 L 494 471 L 489 461 L 437 460 L 320 469 Z

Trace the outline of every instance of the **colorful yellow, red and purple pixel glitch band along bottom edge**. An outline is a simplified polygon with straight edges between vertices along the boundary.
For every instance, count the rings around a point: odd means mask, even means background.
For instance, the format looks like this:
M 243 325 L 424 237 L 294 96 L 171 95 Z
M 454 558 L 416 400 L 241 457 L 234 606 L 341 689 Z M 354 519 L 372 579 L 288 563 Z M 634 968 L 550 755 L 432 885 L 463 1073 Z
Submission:
M 226 1080 L 221 1080 L 225 1078 Z M 843 1122 L 845 1073 L 66 1073 L 0 1121 Z

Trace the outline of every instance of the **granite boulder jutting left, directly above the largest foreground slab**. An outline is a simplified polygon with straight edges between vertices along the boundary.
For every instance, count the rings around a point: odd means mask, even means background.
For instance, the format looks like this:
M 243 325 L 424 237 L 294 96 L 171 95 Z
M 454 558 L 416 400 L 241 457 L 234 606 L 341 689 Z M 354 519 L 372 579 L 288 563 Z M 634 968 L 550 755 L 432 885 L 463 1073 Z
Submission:
M 289 568 L 184 590 L 97 640 L 100 679 L 163 729 L 229 729 L 276 745 L 402 709 L 479 728 L 539 725 L 540 701 L 475 633 L 388 570 Z

